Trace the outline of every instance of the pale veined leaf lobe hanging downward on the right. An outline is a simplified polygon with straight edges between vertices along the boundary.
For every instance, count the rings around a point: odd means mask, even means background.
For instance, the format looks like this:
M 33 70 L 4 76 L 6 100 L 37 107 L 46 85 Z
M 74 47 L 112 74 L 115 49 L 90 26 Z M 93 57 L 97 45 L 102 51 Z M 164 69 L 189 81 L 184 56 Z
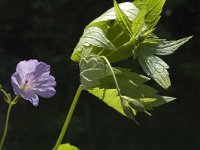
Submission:
M 167 89 L 170 85 L 169 66 L 149 48 L 151 44 L 142 44 L 138 48 L 138 60 L 144 72 L 153 78 L 161 87 Z

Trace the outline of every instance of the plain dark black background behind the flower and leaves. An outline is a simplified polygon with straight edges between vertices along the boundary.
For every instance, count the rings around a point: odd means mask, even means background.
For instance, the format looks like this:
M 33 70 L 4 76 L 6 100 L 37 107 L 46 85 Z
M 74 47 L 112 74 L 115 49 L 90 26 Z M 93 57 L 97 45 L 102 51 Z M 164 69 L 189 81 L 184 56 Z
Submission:
M 124 1 L 118 1 L 124 2 Z M 70 60 L 84 27 L 112 7 L 112 0 L 0 0 L 0 83 L 12 92 L 16 64 L 31 58 L 51 65 L 57 94 L 34 107 L 21 100 L 12 110 L 5 150 L 50 150 L 54 146 L 79 85 L 78 64 Z M 174 55 L 172 86 L 161 94 L 178 99 L 138 115 L 141 126 L 87 92 L 76 107 L 63 142 L 81 150 L 200 149 L 200 2 L 167 0 L 156 34 L 179 39 L 194 35 Z M 0 135 L 7 104 L 0 97 Z

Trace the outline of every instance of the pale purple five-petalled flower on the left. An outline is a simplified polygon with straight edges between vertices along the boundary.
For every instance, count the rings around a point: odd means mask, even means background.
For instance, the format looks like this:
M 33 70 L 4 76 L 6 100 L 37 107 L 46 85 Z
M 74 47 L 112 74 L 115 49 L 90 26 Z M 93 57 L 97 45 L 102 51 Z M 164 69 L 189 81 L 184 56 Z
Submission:
M 39 104 L 38 95 L 45 98 L 54 96 L 55 78 L 50 74 L 50 66 L 37 60 L 24 60 L 17 64 L 11 77 L 16 95 L 29 100 L 34 106 Z

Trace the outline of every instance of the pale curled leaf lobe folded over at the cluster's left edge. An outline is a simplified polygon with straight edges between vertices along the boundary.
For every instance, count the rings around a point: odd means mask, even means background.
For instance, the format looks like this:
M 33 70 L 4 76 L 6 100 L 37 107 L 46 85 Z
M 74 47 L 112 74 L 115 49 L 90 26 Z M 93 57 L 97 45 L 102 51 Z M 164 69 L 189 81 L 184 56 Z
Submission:
M 105 36 L 103 30 L 97 27 L 90 27 L 84 30 L 82 37 L 80 38 L 74 52 L 71 56 L 73 61 L 80 61 L 80 55 L 85 47 L 95 46 L 106 50 L 115 51 L 115 46 Z

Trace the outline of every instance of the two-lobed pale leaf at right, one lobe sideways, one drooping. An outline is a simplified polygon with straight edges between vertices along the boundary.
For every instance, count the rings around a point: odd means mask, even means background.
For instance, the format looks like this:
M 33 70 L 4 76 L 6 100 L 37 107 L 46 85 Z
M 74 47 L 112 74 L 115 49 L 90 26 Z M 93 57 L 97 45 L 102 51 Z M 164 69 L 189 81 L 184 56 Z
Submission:
M 172 54 L 191 38 L 192 36 L 176 41 L 166 41 L 156 37 L 155 42 L 146 40 L 141 43 L 137 49 L 137 56 L 144 72 L 153 78 L 161 87 L 167 89 L 171 85 L 167 71 L 169 66 L 155 55 Z

